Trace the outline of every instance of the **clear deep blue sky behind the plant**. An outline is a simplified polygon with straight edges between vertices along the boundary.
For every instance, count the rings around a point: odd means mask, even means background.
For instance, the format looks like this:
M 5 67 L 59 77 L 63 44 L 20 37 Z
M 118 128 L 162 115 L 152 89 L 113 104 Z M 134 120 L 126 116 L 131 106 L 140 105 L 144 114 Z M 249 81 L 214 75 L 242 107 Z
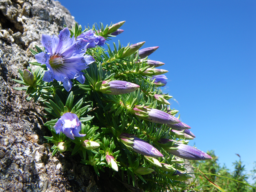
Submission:
M 149 58 L 169 71 L 163 91 L 196 135 L 189 144 L 214 150 L 231 171 L 239 154 L 250 173 L 256 162 L 256 1 L 59 1 L 83 29 L 126 21 L 111 45 L 159 46 Z

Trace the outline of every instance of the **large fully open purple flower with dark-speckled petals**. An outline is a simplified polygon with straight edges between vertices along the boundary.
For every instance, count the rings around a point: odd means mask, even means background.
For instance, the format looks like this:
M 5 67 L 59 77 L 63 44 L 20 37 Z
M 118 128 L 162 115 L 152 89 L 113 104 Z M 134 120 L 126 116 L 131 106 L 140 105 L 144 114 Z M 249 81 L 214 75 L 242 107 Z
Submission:
M 81 84 L 85 77 L 81 70 L 94 62 L 90 55 L 84 55 L 88 45 L 87 40 L 76 41 L 74 36 L 70 38 L 70 31 L 64 28 L 59 37 L 42 34 L 42 45 L 46 52 L 35 55 L 38 63 L 46 64 L 48 71 L 44 73 L 43 80 L 51 82 L 53 79 L 63 82 L 64 88 L 69 91 L 72 88 L 70 79 L 77 79 Z

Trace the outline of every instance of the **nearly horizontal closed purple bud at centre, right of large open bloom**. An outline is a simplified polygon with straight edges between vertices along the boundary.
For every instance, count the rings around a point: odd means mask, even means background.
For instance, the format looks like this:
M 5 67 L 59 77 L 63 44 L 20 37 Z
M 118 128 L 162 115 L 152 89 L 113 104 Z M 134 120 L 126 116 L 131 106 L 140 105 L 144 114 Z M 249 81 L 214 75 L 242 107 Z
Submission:
M 136 91 L 140 88 L 139 85 L 127 81 L 103 81 L 100 87 L 100 92 L 110 95 L 120 95 Z

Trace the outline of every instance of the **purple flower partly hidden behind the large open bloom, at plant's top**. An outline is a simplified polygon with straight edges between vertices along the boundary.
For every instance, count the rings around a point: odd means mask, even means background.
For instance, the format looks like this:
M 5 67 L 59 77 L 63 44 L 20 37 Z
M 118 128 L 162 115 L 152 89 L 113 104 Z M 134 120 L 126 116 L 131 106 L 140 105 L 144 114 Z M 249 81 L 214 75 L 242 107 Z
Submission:
M 77 40 L 79 39 L 84 39 L 87 40 L 89 42 L 87 48 L 93 48 L 98 46 L 104 46 L 106 39 L 104 39 L 104 37 L 102 36 L 98 36 L 96 35 L 93 30 L 88 30 L 82 34 L 80 34 L 77 38 Z

